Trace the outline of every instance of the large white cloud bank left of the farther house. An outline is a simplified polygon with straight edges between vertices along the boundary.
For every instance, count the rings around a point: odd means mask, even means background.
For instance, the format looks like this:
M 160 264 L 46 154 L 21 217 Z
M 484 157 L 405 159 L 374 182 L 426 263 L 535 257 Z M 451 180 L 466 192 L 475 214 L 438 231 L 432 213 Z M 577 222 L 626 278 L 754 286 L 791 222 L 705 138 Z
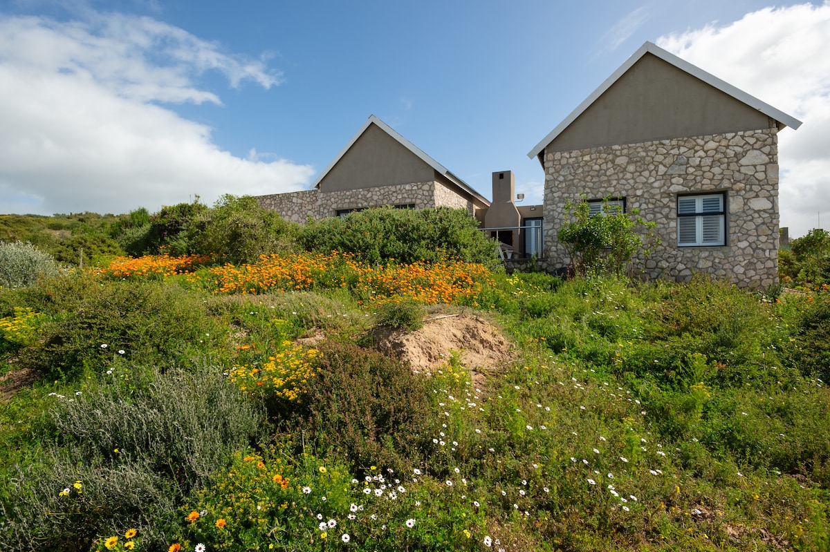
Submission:
M 307 186 L 311 167 L 235 157 L 159 105 L 221 103 L 196 83 L 208 70 L 233 87 L 280 82 L 263 61 L 149 17 L 0 15 L 0 212 L 154 211 Z

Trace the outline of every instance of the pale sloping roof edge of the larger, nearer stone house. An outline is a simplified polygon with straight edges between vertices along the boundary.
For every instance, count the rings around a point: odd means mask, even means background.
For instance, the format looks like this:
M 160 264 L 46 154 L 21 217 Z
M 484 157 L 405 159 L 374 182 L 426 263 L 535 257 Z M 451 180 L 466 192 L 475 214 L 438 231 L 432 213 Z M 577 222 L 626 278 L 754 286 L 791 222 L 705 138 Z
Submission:
M 720 80 L 715 75 L 711 75 L 707 73 L 705 70 L 702 70 L 700 67 L 696 65 L 691 65 L 688 61 L 681 60 L 681 58 L 675 56 L 674 54 L 669 53 L 668 51 L 663 50 L 660 46 L 652 42 L 646 42 L 640 48 L 634 52 L 634 54 L 629 57 L 623 65 L 620 65 L 618 70 L 614 71 L 608 79 L 603 82 L 602 85 L 599 85 L 597 90 L 594 90 L 588 98 L 583 101 L 582 104 L 579 104 L 577 109 L 571 112 L 561 123 L 559 126 L 554 128 L 550 133 L 542 138 L 542 141 L 536 144 L 535 148 L 530 150 L 530 153 L 527 154 L 527 157 L 531 159 L 533 157 L 538 156 L 542 150 L 551 142 L 554 141 L 556 137 L 559 136 L 560 133 L 564 131 L 565 128 L 568 128 L 571 123 L 573 123 L 579 115 L 583 114 L 583 112 L 588 109 L 588 107 L 593 104 L 601 95 L 605 93 L 606 90 L 611 88 L 611 86 L 617 82 L 617 80 L 623 76 L 627 70 L 631 69 L 632 65 L 636 64 L 637 61 L 640 61 L 642 56 L 646 54 L 652 54 L 653 56 L 657 56 L 662 61 L 666 61 L 671 65 L 674 65 L 677 69 L 682 71 L 686 71 L 689 75 L 692 75 L 707 85 L 713 86 L 715 89 L 720 90 L 721 92 L 732 96 L 733 98 L 743 102 L 744 104 L 749 105 L 754 109 L 759 110 L 764 115 L 767 115 L 770 119 L 774 119 L 779 123 L 784 124 L 785 126 L 791 127 L 793 129 L 798 128 L 801 126 L 801 121 L 795 119 L 794 117 L 790 117 L 788 114 L 785 114 L 783 111 L 779 111 L 779 109 L 775 109 L 773 106 L 762 102 L 760 99 L 755 98 L 744 92 L 743 90 L 735 88 L 735 86 L 730 85 L 729 83 L 725 82 L 724 80 Z

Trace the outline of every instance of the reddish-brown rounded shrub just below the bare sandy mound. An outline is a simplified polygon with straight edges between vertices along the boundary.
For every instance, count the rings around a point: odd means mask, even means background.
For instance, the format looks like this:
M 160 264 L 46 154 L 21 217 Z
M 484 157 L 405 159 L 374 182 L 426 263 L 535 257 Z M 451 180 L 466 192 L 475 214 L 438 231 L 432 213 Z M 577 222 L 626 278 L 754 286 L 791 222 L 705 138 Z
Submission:
M 304 407 L 287 420 L 288 432 L 304 433 L 315 451 L 340 454 L 361 471 L 421 461 L 436 433 L 423 376 L 359 346 L 325 341 L 318 348 L 320 371 Z

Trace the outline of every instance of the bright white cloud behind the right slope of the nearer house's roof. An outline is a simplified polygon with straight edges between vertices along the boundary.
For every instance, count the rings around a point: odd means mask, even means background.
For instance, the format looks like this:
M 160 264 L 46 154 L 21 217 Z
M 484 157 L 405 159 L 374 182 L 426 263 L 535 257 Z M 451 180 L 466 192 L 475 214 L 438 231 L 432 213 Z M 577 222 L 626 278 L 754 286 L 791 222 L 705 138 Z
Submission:
M 830 227 L 830 2 L 764 8 L 657 44 L 803 121 L 779 133 L 781 225 Z

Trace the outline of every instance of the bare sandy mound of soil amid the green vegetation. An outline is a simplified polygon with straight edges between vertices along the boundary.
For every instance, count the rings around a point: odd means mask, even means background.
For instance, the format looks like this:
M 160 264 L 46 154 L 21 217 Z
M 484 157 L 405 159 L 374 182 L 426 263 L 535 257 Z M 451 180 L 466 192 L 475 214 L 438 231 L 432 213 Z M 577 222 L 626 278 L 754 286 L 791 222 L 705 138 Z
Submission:
M 413 370 L 432 372 L 449 360 L 450 351 L 459 351 L 461 363 L 472 370 L 476 385 L 483 380 L 484 371 L 506 366 L 514 349 L 498 327 L 468 313 L 433 314 L 415 332 L 378 327 L 372 338 L 379 351 L 408 362 Z

